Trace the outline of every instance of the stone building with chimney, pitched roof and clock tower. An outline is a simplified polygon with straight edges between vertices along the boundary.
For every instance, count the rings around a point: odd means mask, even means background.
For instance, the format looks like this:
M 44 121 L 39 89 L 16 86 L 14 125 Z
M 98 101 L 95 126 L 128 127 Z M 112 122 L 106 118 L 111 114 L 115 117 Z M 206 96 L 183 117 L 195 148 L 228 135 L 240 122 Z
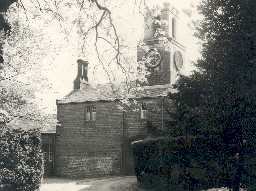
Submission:
M 165 5 L 160 15 L 145 19 L 149 27 L 145 27 L 144 42 L 148 48 L 138 49 L 138 61 L 144 59 L 151 72 L 149 83 L 126 96 L 136 100 L 140 106 L 137 110 L 120 107 L 122 97 L 113 93 L 110 84 L 92 86 L 87 78 L 88 62 L 78 60 L 74 90 L 56 102 L 57 176 L 132 173 L 130 142 L 148 135 L 149 120 L 153 128 L 166 128 L 171 120 L 165 108 L 166 97 L 186 61 L 185 47 L 177 38 L 177 14 Z

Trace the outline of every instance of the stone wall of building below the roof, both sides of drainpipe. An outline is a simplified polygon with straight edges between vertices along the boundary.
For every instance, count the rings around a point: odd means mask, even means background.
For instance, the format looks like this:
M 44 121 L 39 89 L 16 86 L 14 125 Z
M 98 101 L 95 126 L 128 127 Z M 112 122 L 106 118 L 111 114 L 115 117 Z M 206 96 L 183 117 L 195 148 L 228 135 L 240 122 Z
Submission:
M 147 102 L 154 108 L 161 105 L 160 99 Z M 85 108 L 92 105 L 96 106 L 96 121 L 85 121 Z M 56 133 L 57 176 L 104 176 L 133 169 L 129 140 L 145 137 L 147 133 L 140 111 L 124 113 L 116 102 L 59 104 L 57 111 L 61 123 Z M 154 124 L 160 127 L 161 114 L 160 107 L 151 115 Z

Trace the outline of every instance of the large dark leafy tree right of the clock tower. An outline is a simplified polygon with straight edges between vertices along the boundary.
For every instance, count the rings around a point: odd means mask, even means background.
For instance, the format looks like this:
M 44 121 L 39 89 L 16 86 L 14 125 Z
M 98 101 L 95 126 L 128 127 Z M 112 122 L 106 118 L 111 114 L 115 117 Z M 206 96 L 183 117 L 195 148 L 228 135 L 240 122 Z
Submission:
M 255 152 L 255 6 L 253 0 L 202 1 L 199 10 L 204 18 L 197 34 L 203 41 L 202 58 L 193 75 L 180 78 L 173 96 L 183 134 L 218 143 L 213 157 L 223 164 L 231 157 L 244 165 Z M 241 169 L 241 165 L 233 169 L 235 191 L 242 174 L 248 175 Z

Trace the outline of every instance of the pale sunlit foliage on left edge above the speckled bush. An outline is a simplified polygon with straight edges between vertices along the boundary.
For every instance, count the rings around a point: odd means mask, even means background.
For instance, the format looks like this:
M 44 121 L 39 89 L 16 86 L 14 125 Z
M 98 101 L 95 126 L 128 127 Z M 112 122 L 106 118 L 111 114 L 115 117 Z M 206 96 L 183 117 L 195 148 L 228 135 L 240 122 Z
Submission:
M 17 22 L 16 15 L 7 17 L 8 8 L 14 2 L 5 0 L 0 3 L 0 9 L 5 12 L 0 14 L 0 108 L 11 116 L 24 116 L 38 112 L 36 106 L 29 103 L 29 99 L 33 98 L 33 88 L 23 83 L 21 77 L 35 65 L 38 54 L 33 50 L 39 49 L 37 44 L 41 39 L 38 38 L 36 44 L 35 35 L 32 35 L 30 29 L 22 27 L 22 23 Z M 34 43 L 28 46 L 27 42 L 30 42 L 31 38 Z

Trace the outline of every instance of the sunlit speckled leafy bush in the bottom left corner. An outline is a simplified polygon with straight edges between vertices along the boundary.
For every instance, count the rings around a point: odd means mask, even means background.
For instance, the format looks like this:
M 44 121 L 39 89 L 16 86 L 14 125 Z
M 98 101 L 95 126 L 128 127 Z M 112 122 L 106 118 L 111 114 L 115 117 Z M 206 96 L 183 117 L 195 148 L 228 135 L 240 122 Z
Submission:
M 0 185 L 18 191 L 39 188 L 43 172 L 39 130 L 0 127 L 0 153 Z

